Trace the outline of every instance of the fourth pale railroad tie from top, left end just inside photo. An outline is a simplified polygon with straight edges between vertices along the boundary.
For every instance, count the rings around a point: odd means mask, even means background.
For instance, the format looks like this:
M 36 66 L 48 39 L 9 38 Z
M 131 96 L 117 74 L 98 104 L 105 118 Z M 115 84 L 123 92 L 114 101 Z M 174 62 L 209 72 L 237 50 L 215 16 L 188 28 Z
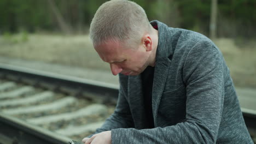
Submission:
M 27 114 L 27 113 L 34 113 L 34 112 L 57 110 L 62 107 L 73 104 L 76 101 L 77 99 L 75 99 L 74 97 L 65 97 L 60 100 L 54 101 L 53 103 L 50 103 L 50 104 L 43 104 L 43 105 L 30 106 L 30 107 L 24 107 L 24 108 L 17 108 L 17 109 L 8 109 L 8 110 L 3 110 L 2 112 L 7 113 L 9 115 L 20 115 L 20 114 Z

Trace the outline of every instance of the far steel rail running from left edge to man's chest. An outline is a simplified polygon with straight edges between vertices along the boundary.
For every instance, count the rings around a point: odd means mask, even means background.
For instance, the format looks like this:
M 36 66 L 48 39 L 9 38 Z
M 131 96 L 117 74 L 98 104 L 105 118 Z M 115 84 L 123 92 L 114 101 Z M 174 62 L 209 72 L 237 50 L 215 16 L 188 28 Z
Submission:
M 74 76 L 55 74 L 47 71 L 34 70 L 1 63 L 0 72 L 7 75 L 15 75 L 16 77 L 26 77 L 27 79 L 38 79 L 49 83 L 59 83 L 61 86 L 78 89 L 77 91 L 85 91 L 88 93 L 106 96 L 108 98 L 117 99 L 118 97 L 119 86 L 110 83 L 104 83 Z

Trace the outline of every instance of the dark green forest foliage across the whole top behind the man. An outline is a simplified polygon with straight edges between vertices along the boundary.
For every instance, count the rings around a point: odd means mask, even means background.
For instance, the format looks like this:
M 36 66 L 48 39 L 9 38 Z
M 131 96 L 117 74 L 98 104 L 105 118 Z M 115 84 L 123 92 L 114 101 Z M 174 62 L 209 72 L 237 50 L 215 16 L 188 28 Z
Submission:
M 90 25 L 91 19 L 100 5 L 107 0 L 52 0 L 66 23 L 73 29 Z M 211 0 L 133 0 L 141 5 L 149 20 L 160 20 L 167 25 L 208 33 L 211 14 Z M 222 29 L 223 20 L 228 19 L 230 31 L 225 36 L 256 34 L 255 0 L 218 0 L 218 25 Z M 45 0 L 1 0 L 0 32 L 17 33 L 20 29 L 27 32 L 58 31 L 56 19 Z M 226 24 L 229 25 L 229 24 Z M 241 27 L 243 28 L 241 30 Z M 236 33 L 231 31 L 237 31 Z M 228 34 L 230 33 L 230 34 Z M 26 36 L 24 36 L 26 39 Z

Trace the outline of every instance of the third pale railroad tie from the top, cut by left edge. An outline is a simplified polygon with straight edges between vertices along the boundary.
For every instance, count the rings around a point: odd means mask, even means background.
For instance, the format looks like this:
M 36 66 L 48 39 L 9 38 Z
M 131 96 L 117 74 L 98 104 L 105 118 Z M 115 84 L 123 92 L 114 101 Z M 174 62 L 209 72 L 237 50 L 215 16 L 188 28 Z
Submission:
M 20 98 L 15 100 L 2 100 L 0 101 L 0 107 L 21 105 L 21 104 L 31 104 L 31 103 L 36 103 L 38 101 L 42 101 L 45 99 L 49 99 L 51 97 L 54 97 L 54 93 L 50 91 L 45 91 L 45 92 L 31 95 L 31 97 L 28 97 L 28 98 Z

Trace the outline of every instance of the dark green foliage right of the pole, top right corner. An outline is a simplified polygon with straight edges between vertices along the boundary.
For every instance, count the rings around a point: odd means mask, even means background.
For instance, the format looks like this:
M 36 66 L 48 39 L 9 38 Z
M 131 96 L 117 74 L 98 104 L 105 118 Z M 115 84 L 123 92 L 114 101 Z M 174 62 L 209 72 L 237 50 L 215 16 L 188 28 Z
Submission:
M 228 37 L 256 37 L 256 1 L 255 0 L 219 0 L 220 21 L 230 21 L 229 27 L 233 27 Z M 225 30 L 224 30 L 225 31 Z

